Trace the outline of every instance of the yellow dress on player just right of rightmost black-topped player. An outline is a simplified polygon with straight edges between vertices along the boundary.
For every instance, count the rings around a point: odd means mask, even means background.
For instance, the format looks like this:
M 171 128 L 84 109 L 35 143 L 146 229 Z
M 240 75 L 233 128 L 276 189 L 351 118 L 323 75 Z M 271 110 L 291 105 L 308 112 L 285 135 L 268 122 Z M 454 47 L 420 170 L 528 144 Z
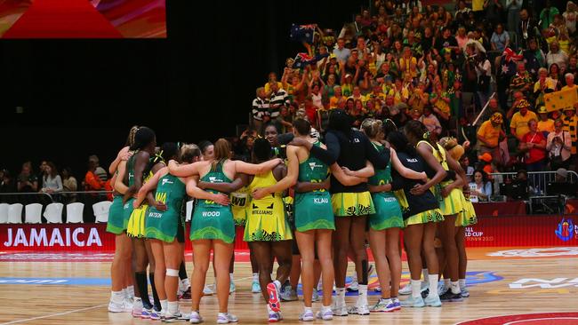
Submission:
M 428 141 L 420 141 L 417 145 L 419 146 L 421 143 L 425 143 L 431 147 L 434 157 L 438 159 L 438 162 L 442 165 L 444 170 L 450 170 L 447 166 L 446 150 L 443 147 L 441 147 L 439 144 L 436 144 L 438 147 L 432 147 Z M 464 198 L 461 189 L 454 188 L 450 194 L 448 194 L 446 197 L 442 197 L 442 188 L 452 184 L 453 182 L 454 180 L 446 180 L 440 182 L 438 186 L 431 187 L 433 194 L 436 195 L 439 200 L 439 210 L 442 210 L 444 216 L 451 216 L 454 214 L 462 213 L 463 211 Z

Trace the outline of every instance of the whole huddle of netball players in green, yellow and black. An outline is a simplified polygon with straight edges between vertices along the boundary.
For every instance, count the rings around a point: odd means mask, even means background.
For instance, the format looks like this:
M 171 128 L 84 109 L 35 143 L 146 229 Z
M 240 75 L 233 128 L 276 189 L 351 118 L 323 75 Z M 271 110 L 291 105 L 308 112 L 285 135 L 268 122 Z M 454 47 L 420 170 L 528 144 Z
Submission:
M 116 252 L 109 312 L 202 322 L 199 306 L 213 251 L 217 322 L 237 321 L 228 309 L 236 227 L 244 228 L 252 291 L 262 294 L 269 322 L 281 321 L 281 301 L 296 296 L 285 282 L 294 277 L 292 266 L 300 258 L 300 321 L 440 307 L 469 296 L 464 227 L 476 223 L 476 215 L 457 163 L 463 148 L 455 139 L 437 139 L 418 121 L 402 131 L 391 120 L 366 119 L 360 130 L 353 129 L 340 109 L 329 116 L 323 142 L 302 118 L 293 121 L 293 134 L 269 133 L 274 139 L 256 139 L 252 163 L 245 163 L 230 159 L 226 139 L 217 140 L 211 152 L 175 143 L 158 150 L 152 130 L 132 128 L 110 166 L 115 195 L 107 230 L 116 234 Z M 191 281 L 184 265 L 183 212 L 190 198 Z M 373 266 L 366 243 L 381 283 L 381 297 L 371 304 L 367 284 Z M 411 273 L 404 289 L 399 288 L 402 244 Z M 345 303 L 348 258 L 358 283 L 357 302 L 350 306 Z M 322 304 L 314 313 L 317 289 Z M 404 294 L 409 297 L 400 301 Z M 180 298 L 191 299 L 190 313 L 181 313 Z

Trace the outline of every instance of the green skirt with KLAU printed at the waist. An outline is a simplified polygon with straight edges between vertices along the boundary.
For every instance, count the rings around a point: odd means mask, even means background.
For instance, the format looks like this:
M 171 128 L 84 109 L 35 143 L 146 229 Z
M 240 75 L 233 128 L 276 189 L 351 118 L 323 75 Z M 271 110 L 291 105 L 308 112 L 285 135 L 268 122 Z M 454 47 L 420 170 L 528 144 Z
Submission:
M 295 229 L 306 232 L 313 229 L 335 230 L 335 219 L 328 192 L 307 192 L 295 194 Z

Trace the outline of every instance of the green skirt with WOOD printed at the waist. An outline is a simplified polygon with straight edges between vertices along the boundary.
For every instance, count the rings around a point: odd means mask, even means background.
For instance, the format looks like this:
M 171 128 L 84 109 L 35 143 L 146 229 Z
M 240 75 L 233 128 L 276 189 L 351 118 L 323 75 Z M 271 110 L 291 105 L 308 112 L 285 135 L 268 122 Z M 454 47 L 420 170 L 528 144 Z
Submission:
M 235 221 L 229 206 L 217 203 L 198 202 L 190 221 L 191 241 L 202 239 L 235 241 Z

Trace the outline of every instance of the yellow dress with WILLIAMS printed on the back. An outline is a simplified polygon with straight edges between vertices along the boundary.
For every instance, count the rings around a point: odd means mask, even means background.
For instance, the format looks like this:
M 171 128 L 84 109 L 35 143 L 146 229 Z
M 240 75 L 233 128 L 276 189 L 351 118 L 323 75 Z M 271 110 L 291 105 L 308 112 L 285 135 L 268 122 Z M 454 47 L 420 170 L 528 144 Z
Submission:
M 277 184 L 273 171 L 255 175 L 249 191 L 258 187 Z M 281 193 L 268 194 L 260 200 L 253 198 L 247 211 L 245 242 L 280 242 L 293 239 L 285 218 L 285 205 Z

